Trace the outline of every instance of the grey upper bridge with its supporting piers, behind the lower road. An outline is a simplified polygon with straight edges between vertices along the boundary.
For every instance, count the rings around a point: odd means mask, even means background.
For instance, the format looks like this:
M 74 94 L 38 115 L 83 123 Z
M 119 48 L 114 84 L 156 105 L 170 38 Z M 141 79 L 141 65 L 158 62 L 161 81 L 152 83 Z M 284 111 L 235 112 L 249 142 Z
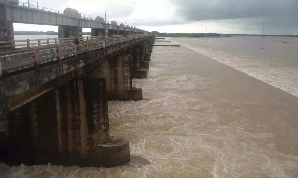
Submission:
M 102 17 L 91 18 L 75 9 L 63 12 L 39 6 L 32 0 L 0 0 L 0 47 L 13 46 L 13 23 L 58 26 L 59 38 L 82 36 L 83 28 L 91 28 L 92 36 L 149 33 L 133 26 L 107 21 Z

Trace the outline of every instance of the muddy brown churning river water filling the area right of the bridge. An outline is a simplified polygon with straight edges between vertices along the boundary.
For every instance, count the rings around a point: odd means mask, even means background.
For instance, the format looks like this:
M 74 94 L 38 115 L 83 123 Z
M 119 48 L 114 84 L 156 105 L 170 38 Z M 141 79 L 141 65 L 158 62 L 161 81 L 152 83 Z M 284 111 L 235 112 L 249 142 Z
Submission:
M 298 98 L 288 94 L 297 96 L 297 45 L 170 40 L 186 47 L 154 47 L 148 79 L 133 80 L 144 100 L 109 102 L 111 135 L 130 141 L 128 165 L 2 163 L 0 177 L 298 177 Z

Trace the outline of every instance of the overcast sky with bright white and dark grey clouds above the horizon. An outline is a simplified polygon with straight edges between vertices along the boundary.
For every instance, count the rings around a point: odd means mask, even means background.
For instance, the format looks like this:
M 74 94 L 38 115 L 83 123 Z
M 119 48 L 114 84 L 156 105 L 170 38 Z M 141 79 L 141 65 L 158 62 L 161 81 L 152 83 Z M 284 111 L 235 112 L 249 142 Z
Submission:
M 22 0 L 20 0 L 22 1 Z M 24 1 L 24 0 L 23 0 Z M 146 31 L 298 34 L 298 0 L 39 0 L 39 6 L 77 9 Z M 57 31 L 56 26 L 14 24 L 15 31 Z M 83 31 L 90 31 L 86 28 Z

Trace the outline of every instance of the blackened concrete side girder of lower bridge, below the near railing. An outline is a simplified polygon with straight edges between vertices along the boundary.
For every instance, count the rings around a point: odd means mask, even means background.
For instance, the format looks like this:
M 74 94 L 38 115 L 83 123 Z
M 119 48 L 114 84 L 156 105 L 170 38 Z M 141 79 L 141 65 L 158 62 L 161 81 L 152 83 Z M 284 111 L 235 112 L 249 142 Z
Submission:
M 102 64 L 108 59 L 108 56 L 114 56 L 116 53 L 121 53 L 132 47 L 146 38 L 152 38 L 153 36 L 145 36 L 142 38 L 134 39 L 119 45 L 114 45 L 112 47 L 102 48 L 97 52 L 89 53 L 88 55 L 80 55 L 77 58 L 69 58 L 58 63 L 54 61 L 53 63 L 47 63 L 46 66 L 40 66 L 40 68 L 30 68 L 19 73 L 13 74 L 13 76 L 7 76 L 2 78 L 0 81 L 1 89 L 1 112 L 2 115 L 5 115 L 9 112 L 7 110 L 7 98 L 14 99 L 15 102 L 21 102 L 27 96 L 22 96 L 18 98 L 18 95 L 24 92 L 30 92 L 30 90 L 39 85 L 43 85 L 49 81 L 52 81 L 58 77 L 61 77 L 69 72 L 76 71 L 79 73 L 78 69 L 83 69 L 84 72 L 91 71 L 95 67 Z M 90 64 L 90 65 L 89 65 Z M 30 70 L 30 71 L 27 71 Z M 74 77 L 74 76 L 73 76 Z M 27 95 L 29 95 L 27 93 Z

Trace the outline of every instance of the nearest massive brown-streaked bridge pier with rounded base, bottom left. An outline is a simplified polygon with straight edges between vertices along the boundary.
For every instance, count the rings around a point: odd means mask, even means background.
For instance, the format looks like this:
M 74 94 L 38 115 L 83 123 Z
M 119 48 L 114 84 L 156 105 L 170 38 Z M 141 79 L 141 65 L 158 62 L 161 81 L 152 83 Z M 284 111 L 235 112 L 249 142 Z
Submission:
M 72 80 L 1 122 L 0 158 L 8 165 L 113 167 L 130 161 L 129 142 L 109 135 L 104 78 Z

